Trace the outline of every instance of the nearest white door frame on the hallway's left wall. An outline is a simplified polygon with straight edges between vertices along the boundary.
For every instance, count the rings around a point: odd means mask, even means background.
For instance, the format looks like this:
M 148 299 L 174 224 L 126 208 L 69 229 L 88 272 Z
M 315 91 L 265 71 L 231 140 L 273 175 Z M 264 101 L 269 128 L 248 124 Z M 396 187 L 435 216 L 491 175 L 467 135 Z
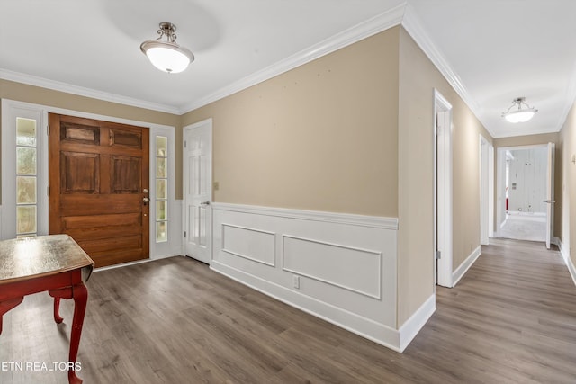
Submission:
M 453 219 L 452 219 L 452 104 L 434 90 L 434 264 L 438 285 L 452 288 Z M 441 253 L 437 259 L 437 251 Z

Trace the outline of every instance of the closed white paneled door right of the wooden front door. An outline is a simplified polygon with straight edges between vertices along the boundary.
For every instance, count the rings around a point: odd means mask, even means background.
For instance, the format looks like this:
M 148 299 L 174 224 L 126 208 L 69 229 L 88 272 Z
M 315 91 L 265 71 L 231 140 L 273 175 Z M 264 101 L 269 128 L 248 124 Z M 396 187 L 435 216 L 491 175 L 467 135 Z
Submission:
M 211 262 L 211 119 L 184 127 L 184 255 Z

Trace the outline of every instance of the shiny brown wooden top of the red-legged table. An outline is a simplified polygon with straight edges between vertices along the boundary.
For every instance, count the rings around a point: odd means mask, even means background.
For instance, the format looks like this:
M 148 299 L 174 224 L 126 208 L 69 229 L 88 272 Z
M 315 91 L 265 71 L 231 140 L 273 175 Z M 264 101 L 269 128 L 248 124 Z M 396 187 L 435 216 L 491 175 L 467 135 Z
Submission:
M 0 285 L 82 269 L 86 281 L 94 262 L 68 235 L 0 241 Z

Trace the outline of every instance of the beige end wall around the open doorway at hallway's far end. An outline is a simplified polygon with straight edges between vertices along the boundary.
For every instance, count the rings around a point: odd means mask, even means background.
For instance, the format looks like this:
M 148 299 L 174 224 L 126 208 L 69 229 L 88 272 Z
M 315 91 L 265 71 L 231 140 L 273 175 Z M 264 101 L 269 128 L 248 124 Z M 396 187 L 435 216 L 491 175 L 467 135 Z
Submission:
M 559 133 L 543 133 L 539 135 L 514 136 L 510 138 L 494 139 L 494 196 L 498 191 L 498 148 L 503 147 L 523 147 L 536 146 L 554 143 L 556 145 L 555 162 L 554 162 L 554 236 L 560 237 L 563 226 L 563 193 L 562 193 L 562 168 L 563 168 L 563 148 Z M 496 211 L 494 207 L 494 224 L 496 224 Z

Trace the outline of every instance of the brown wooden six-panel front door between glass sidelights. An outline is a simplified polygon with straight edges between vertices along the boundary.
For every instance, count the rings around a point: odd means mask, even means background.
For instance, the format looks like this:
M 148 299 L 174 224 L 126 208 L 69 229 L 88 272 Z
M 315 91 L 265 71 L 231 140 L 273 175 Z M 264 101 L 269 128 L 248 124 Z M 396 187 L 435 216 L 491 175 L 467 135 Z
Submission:
M 49 233 L 96 267 L 148 258 L 148 129 L 49 114 Z

